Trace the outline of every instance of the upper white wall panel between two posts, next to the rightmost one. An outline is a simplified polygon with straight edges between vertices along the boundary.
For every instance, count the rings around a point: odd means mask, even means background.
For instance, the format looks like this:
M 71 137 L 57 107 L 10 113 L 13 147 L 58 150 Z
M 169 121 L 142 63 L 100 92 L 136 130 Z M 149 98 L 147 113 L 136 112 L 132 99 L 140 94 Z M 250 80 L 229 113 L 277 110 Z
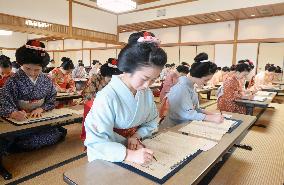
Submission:
M 233 21 L 184 26 L 181 42 L 234 40 L 234 29 Z

